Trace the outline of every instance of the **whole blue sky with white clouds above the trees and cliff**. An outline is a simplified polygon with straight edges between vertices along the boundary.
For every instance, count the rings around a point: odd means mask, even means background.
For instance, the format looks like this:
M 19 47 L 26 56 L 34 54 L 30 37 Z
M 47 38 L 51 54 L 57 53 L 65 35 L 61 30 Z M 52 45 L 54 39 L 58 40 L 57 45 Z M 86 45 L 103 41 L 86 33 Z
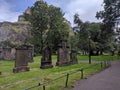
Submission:
M 16 22 L 27 7 L 36 0 L 0 0 L 0 22 Z M 102 10 L 103 0 L 44 0 L 49 5 L 60 7 L 64 17 L 73 25 L 73 16 L 79 14 L 82 21 L 98 22 L 96 12 Z

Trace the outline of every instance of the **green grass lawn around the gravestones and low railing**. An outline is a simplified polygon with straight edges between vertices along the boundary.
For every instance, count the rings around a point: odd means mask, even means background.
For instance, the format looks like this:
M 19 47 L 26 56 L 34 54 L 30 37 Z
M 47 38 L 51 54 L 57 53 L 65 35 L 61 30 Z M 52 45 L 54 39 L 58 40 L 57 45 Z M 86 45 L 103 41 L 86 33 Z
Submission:
M 0 71 L 2 72 L 2 75 L 0 75 L 0 90 L 24 90 L 27 87 L 31 87 L 37 85 L 38 83 L 43 83 L 45 81 L 55 79 L 62 75 L 66 75 L 67 73 L 73 72 L 77 69 L 92 66 L 92 64 L 90 65 L 88 63 L 79 63 L 70 66 L 57 67 L 55 66 L 56 56 L 52 56 L 54 68 L 40 69 L 40 58 L 41 56 L 36 56 L 34 57 L 34 62 L 29 63 L 29 72 L 21 72 L 16 74 L 12 73 L 12 70 L 14 68 L 14 61 L 0 61 Z M 93 58 L 96 60 L 106 60 L 108 56 L 104 56 L 103 58 L 94 56 L 92 57 L 92 59 Z M 87 60 L 88 56 L 78 56 L 78 59 Z M 84 71 L 84 76 L 93 74 L 100 69 L 100 64 L 97 66 L 93 66 Z M 73 82 L 80 80 L 80 76 L 80 72 L 70 75 L 68 87 L 71 87 Z M 46 85 L 46 89 L 60 90 L 65 87 L 65 80 L 66 77 L 49 83 Z M 40 86 L 31 90 L 42 90 L 42 87 Z

